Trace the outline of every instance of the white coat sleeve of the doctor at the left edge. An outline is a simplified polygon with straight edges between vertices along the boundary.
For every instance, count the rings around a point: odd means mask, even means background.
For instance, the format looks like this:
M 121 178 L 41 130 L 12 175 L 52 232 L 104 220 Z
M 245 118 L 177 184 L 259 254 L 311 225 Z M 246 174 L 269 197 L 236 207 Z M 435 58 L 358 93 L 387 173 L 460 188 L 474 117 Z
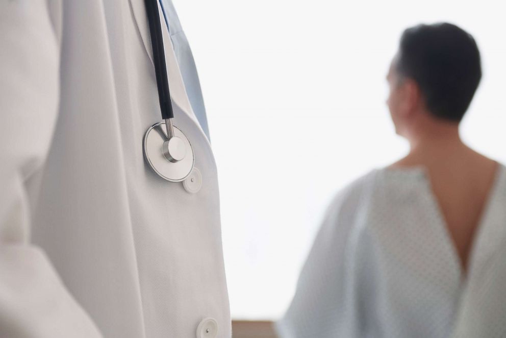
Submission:
M 101 336 L 30 244 L 26 182 L 46 158 L 58 114 L 60 5 L 0 1 L 0 337 Z

